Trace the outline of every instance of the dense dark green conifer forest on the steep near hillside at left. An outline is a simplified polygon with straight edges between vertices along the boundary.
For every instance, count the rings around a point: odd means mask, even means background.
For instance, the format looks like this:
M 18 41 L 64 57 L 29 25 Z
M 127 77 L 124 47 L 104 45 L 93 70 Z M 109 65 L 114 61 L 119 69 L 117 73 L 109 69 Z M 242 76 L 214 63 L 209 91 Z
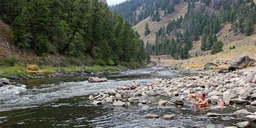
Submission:
M 4 0 L 0 18 L 11 26 L 15 45 L 38 56 L 60 54 L 83 65 L 143 63 L 146 59 L 138 33 L 105 1 Z

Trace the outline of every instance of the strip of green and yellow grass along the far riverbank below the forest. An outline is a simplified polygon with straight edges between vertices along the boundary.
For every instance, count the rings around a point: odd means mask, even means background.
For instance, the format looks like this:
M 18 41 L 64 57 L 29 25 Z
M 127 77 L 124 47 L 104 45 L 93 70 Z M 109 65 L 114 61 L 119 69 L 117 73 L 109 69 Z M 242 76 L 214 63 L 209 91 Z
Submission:
M 36 66 L 36 65 L 35 65 Z M 69 67 L 54 67 L 54 66 L 38 66 L 34 68 L 35 70 L 28 70 L 28 66 L 3 66 L 0 67 L 0 78 L 8 78 L 11 75 L 17 76 L 48 76 L 56 71 L 61 72 L 77 72 L 81 70 L 90 70 L 90 71 L 113 71 L 118 69 L 127 69 L 125 66 L 69 66 Z

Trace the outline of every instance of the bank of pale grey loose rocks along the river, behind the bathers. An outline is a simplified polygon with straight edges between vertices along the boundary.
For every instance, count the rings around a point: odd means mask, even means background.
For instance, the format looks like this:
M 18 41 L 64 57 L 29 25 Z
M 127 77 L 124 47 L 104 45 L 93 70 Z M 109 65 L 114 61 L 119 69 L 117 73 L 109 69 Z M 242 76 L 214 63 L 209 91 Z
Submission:
M 90 96 L 93 104 L 113 104 L 113 106 L 129 106 L 130 104 L 158 105 L 183 105 L 186 95 L 193 89 L 196 92 L 204 91 L 210 104 L 218 104 L 224 100 L 226 106 L 234 107 L 241 104 L 245 107 L 256 105 L 256 70 L 247 68 L 238 71 L 220 72 L 218 70 L 191 69 L 198 72 L 198 76 L 175 77 L 172 79 L 156 79 L 153 82 L 142 85 L 137 82 L 118 86 L 112 90 L 100 93 L 98 96 Z M 154 103 L 143 97 L 167 97 L 169 100 L 159 100 Z M 246 114 L 247 118 L 254 119 L 256 113 L 241 110 L 233 114 Z M 221 116 L 219 113 L 208 113 L 207 115 Z M 149 113 L 146 118 L 159 118 L 154 113 Z M 166 114 L 164 119 L 172 119 L 173 115 Z M 244 125 L 242 125 L 244 124 Z M 238 126 L 250 125 L 250 122 L 239 123 Z

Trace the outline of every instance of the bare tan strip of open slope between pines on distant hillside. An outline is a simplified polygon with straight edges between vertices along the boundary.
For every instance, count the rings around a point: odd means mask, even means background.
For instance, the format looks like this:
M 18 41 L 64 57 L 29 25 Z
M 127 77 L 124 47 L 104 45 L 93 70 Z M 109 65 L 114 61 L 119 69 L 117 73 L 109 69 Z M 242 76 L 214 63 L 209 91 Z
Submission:
M 166 16 L 164 16 L 164 11 L 159 12 L 161 15 L 160 22 L 152 22 L 150 17 L 147 17 L 142 22 L 139 22 L 138 24 L 133 26 L 133 29 L 139 33 L 140 38 L 143 39 L 144 43 L 147 43 L 147 41 L 149 41 L 149 43 L 154 44 L 156 42 L 156 32 L 161 27 L 167 26 L 167 24 L 173 19 L 177 19 L 181 15 L 184 16 L 186 11 L 187 11 L 187 2 L 180 1 L 178 5 L 177 4 L 175 5 L 175 11 L 172 12 L 172 14 L 167 14 Z M 144 35 L 146 23 L 149 24 L 149 28 L 151 31 L 150 34 L 147 36 Z

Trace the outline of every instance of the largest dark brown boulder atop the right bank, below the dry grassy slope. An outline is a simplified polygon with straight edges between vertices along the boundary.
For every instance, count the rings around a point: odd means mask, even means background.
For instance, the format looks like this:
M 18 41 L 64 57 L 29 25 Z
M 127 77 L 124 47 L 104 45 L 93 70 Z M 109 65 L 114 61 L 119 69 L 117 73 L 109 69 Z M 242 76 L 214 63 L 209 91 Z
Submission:
M 228 66 L 228 71 L 235 71 L 235 69 L 246 68 L 246 66 L 250 65 L 251 61 L 252 59 L 249 56 L 240 57 L 230 63 Z

